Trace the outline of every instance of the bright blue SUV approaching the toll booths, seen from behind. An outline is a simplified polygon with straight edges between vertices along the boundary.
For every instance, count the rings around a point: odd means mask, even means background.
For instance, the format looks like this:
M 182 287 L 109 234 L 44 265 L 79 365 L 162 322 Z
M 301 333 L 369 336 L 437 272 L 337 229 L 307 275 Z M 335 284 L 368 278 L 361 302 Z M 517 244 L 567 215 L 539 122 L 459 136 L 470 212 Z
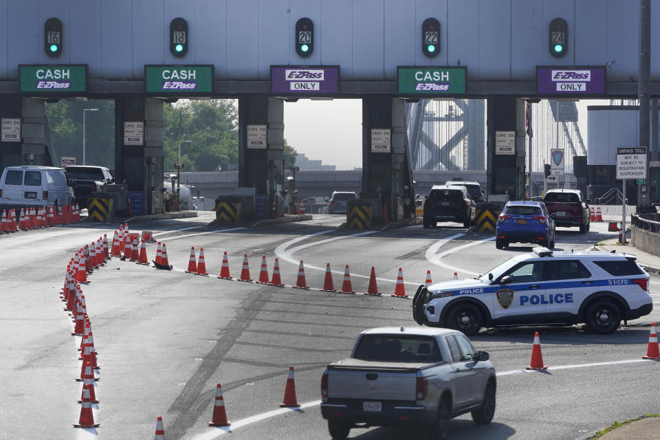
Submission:
M 555 220 L 542 201 L 509 201 L 495 228 L 495 247 L 506 248 L 509 243 L 538 243 L 555 247 Z

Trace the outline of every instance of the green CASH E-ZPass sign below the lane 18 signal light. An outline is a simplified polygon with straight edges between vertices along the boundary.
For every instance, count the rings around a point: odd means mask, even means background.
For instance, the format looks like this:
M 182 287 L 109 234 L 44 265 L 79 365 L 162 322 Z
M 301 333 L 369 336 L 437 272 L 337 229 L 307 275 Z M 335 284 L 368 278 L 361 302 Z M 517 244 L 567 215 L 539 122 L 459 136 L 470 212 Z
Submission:
M 210 94 L 213 91 L 213 66 L 144 66 L 146 93 Z

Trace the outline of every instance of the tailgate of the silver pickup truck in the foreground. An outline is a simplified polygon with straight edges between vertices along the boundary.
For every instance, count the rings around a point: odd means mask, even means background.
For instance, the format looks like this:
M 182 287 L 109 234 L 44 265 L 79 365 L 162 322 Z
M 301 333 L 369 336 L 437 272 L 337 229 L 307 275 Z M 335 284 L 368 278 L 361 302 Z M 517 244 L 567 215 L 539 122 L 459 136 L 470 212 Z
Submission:
M 428 365 L 344 359 L 328 366 L 328 397 L 415 400 L 417 371 Z

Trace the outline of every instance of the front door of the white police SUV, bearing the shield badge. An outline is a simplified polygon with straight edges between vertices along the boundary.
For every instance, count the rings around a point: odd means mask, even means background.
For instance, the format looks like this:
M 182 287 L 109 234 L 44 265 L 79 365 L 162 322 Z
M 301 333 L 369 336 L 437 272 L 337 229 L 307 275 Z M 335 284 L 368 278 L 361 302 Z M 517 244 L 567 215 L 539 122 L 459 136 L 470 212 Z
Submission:
M 493 318 L 515 323 L 525 318 L 544 318 L 546 289 L 543 260 L 522 261 L 500 276 L 492 287 Z M 505 276 L 510 283 L 500 284 Z

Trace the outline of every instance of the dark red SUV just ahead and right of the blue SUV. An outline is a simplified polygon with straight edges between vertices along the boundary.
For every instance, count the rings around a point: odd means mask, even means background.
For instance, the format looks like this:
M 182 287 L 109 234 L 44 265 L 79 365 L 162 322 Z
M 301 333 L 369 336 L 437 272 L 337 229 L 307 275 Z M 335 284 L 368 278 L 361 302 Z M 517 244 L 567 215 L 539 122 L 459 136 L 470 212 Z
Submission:
M 550 214 L 555 214 L 555 224 L 564 228 L 580 228 L 584 233 L 589 230 L 591 208 L 584 200 L 582 191 L 570 189 L 548 190 L 543 197 Z

